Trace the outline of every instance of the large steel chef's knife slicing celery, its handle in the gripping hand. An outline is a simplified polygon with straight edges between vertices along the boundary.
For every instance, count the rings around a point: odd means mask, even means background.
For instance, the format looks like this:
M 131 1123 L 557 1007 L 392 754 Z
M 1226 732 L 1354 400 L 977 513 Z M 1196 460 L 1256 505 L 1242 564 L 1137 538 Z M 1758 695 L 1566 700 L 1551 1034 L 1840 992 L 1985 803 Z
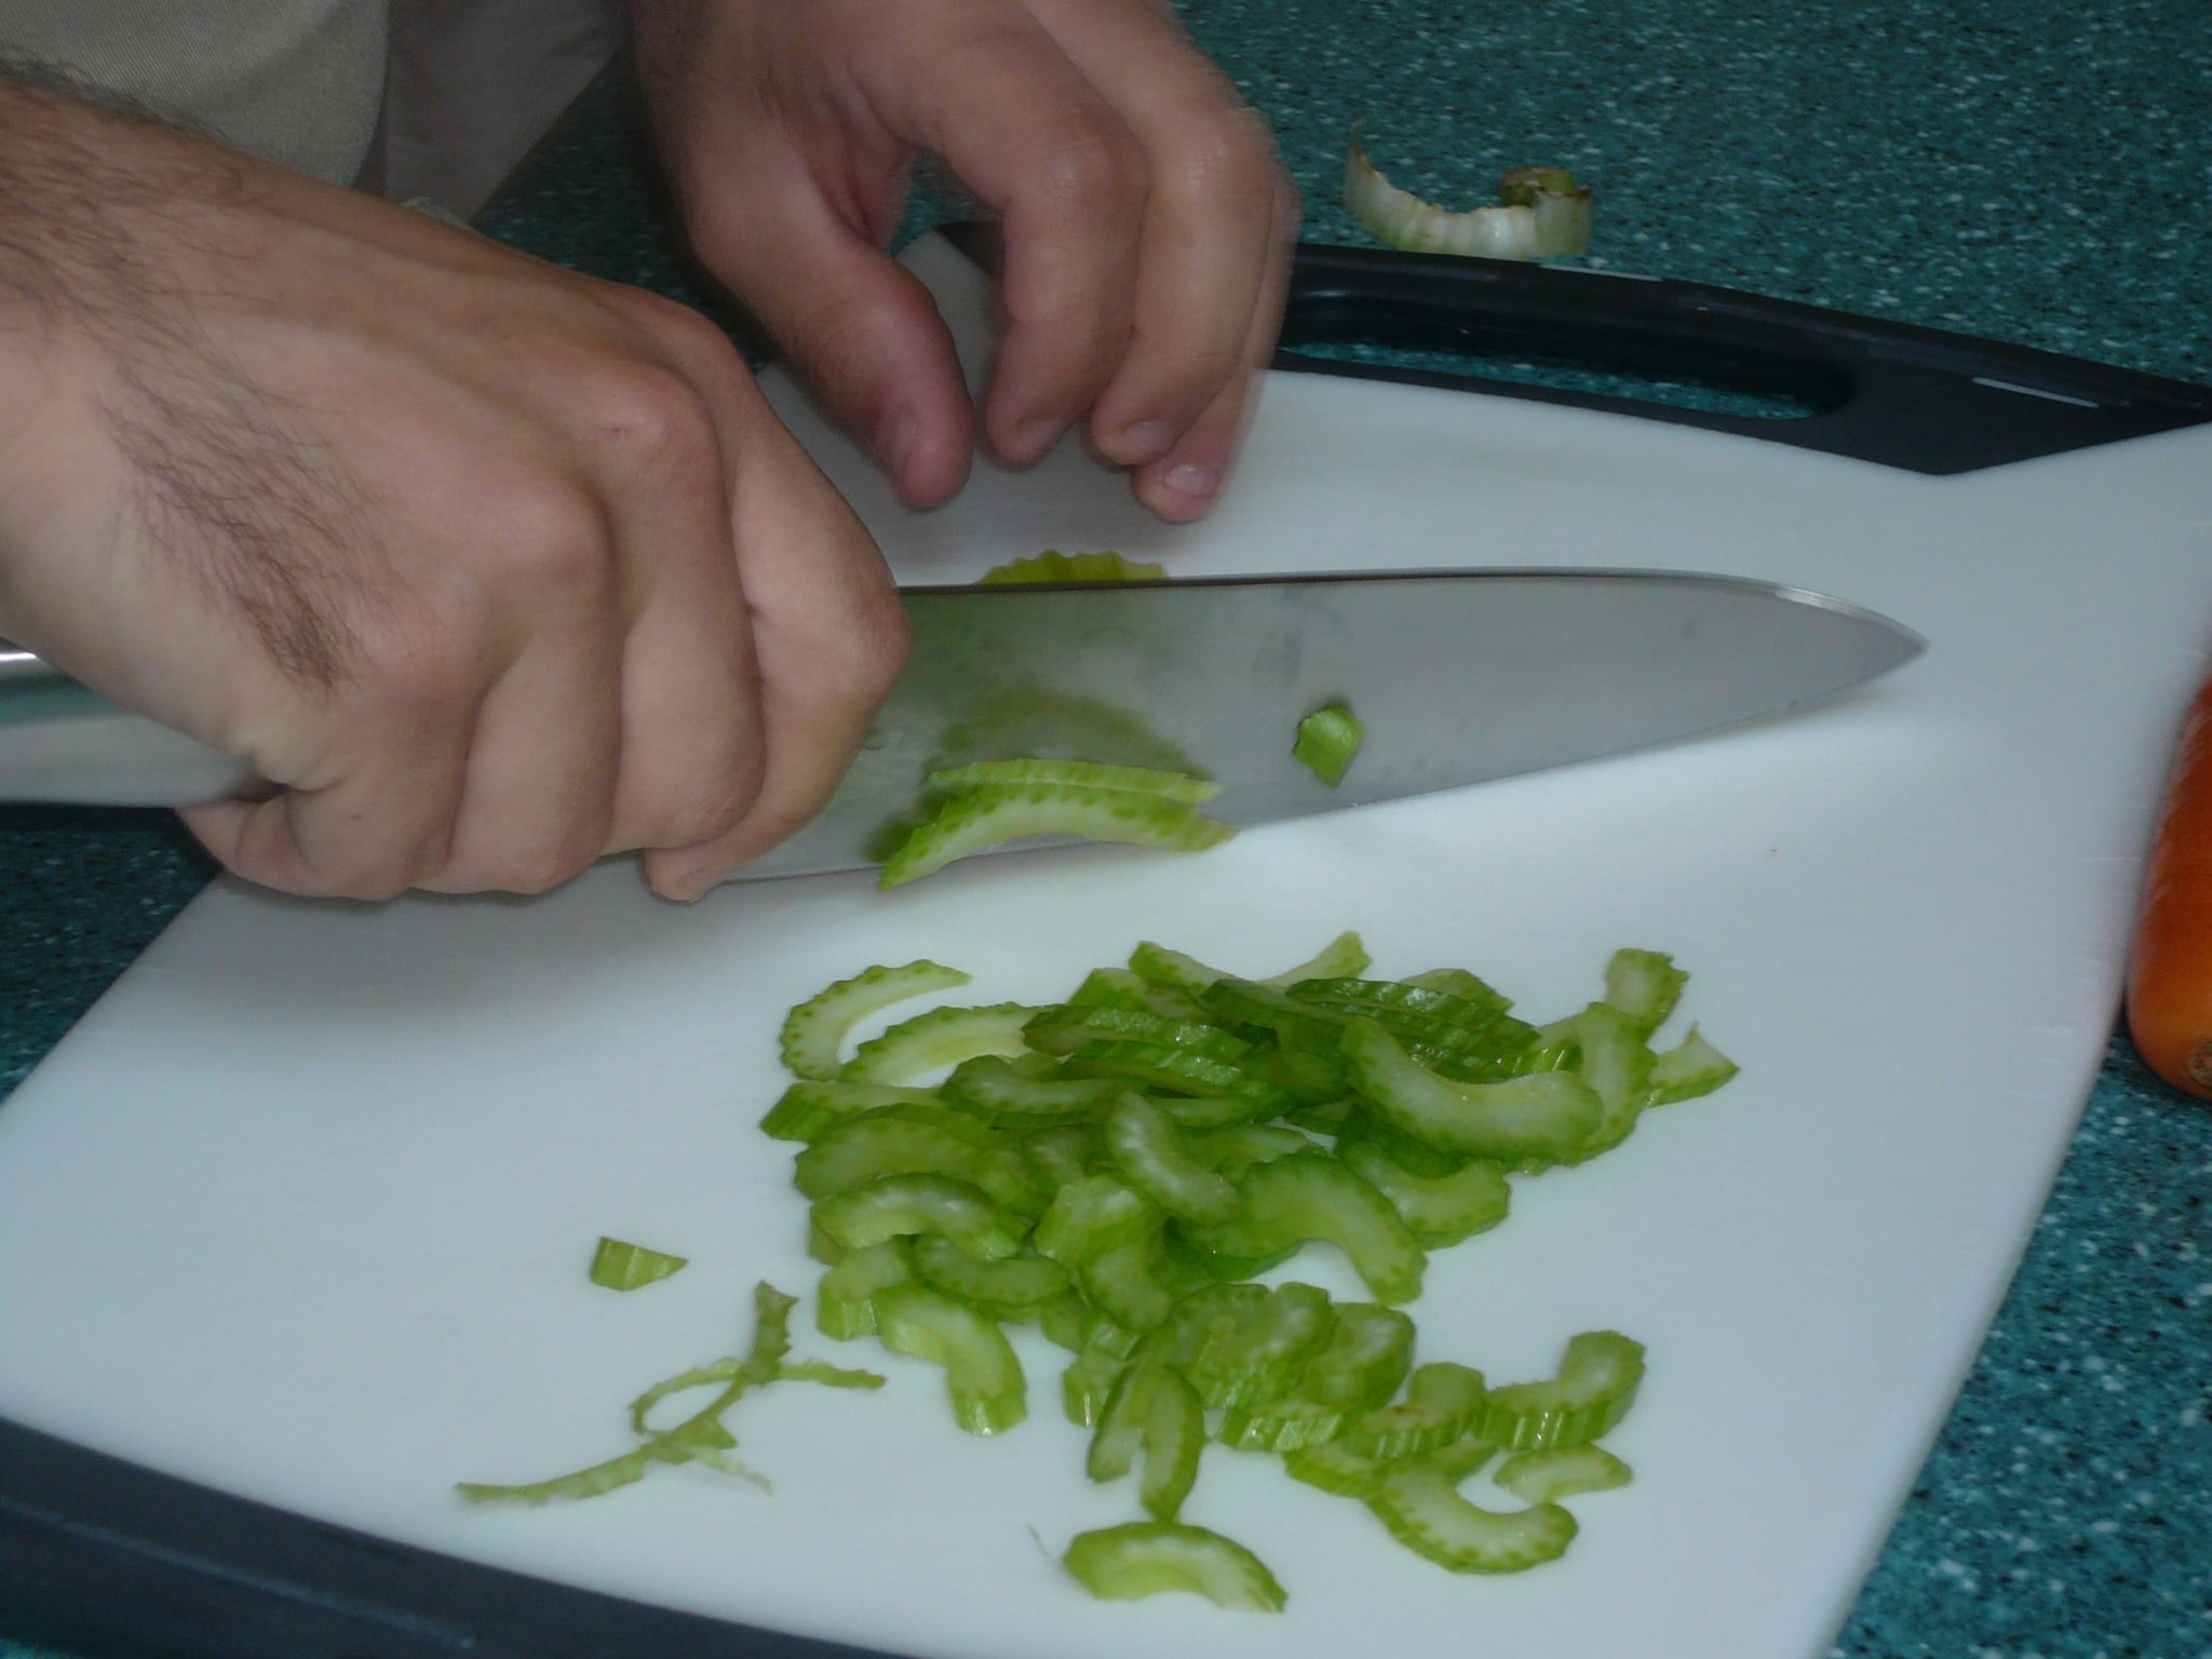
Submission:
M 1922 650 L 1803 588 L 1681 571 L 1387 571 L 920 586 L 905 675 L 836 796 L 739 880 L 865 869 L 984 759 L 1086 759 L 1221 783 L 1250 825 L 1668 743 L 1832 697 Z M 1292 759 L 1303 714 L 1367 728 L 1338 787 Z M 0 648 L 0 799 L 181 805 L 237 761 Z M 1046 843 L 1024 843 L 1046 845 Z

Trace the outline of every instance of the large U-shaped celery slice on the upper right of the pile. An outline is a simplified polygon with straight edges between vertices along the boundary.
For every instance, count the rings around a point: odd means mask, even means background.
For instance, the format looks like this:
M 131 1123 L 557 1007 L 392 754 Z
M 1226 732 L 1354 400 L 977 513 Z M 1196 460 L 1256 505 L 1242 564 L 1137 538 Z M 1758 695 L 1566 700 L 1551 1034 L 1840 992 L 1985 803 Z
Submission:
M 1564 1071 L 1500 1084 L 1455 1084 L 1416 1064 L 1378 1024 L 1345 1033 L 1345 1060 L 1360 1095 L 1383 1117 L 1447 1152 L 1515 1164 L 1562 1159 L 1597 1126 L 1599 1099 Z

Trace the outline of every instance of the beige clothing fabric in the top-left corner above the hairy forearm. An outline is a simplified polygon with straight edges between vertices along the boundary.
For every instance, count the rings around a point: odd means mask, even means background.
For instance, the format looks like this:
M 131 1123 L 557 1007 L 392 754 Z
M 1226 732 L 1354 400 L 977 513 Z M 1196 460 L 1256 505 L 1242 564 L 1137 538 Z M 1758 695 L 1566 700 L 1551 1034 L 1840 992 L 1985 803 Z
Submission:
M 0 0 L 0 55 L 334 184 L 369 155 L 387 0 Z

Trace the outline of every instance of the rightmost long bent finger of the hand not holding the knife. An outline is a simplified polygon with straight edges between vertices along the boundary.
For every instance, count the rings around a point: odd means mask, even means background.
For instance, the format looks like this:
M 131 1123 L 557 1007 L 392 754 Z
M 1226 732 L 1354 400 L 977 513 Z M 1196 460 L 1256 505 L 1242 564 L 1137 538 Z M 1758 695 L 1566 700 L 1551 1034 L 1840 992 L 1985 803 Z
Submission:
M 1093 442 L 1110 460 L 1144 467 L 1183 445 L 1203 420 L 1206 442 L 1181 453 L 1179 467 L 1186 484 L 1219 489 L 1239 431 L 1239 400 L 1223 409 L 1217 403 L 1250 369 L 1254 332 L 1272 347 L 1281 323 L 1276 276 L 1287 179 L 1274 142 L 1172 15 L 1095 0 L 1035 0 L 1035 9 L 1148 157 L 1135 325 L 1091 416 Z

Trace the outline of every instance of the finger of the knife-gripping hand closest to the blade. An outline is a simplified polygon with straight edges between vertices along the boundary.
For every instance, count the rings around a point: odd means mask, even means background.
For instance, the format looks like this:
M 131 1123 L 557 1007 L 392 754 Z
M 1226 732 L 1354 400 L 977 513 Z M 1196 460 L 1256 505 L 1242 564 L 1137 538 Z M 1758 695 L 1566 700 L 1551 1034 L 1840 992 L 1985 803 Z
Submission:
M 759 794 L 726 834 L 646 854 L 655 889 L 684 898 L 697 898 L 821 812 L 907 648 L 905 608 L 843 498 L 757 394 L 737 400 L 730 416 L 739 449 L 734 546 L 759 664 L 765 761 Z

